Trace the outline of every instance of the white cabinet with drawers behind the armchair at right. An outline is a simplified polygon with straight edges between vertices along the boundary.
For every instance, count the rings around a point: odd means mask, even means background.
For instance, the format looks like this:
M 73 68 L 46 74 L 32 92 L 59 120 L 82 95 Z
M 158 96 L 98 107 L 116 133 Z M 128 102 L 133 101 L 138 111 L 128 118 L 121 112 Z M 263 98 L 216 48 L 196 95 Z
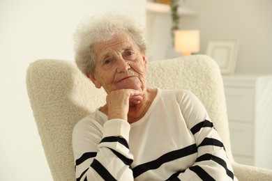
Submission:
M 236 162 L 272 169 L 272 75 L 223 76 Z

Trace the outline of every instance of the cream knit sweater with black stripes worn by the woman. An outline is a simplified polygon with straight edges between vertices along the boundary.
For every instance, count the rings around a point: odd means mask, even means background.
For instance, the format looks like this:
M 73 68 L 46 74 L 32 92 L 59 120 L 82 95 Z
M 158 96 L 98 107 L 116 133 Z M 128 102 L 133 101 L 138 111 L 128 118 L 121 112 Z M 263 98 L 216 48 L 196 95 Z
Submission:
M 224 145 L 189 91 L 158 89 L 143 118 L 96 110 L 73 130 L 77 180 L 236 180 Z

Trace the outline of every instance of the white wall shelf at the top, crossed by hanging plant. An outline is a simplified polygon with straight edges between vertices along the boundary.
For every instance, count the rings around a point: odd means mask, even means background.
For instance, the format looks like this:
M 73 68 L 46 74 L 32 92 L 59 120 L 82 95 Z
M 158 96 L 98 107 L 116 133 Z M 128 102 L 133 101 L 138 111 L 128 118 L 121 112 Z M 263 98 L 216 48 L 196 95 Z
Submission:
M 170 13 L 170 6 L 163 3 L 146 2 L 146 10 L 151 13 Z M 191 8 L 180 7 L 180 15 L 197 15 L 195 10 Z

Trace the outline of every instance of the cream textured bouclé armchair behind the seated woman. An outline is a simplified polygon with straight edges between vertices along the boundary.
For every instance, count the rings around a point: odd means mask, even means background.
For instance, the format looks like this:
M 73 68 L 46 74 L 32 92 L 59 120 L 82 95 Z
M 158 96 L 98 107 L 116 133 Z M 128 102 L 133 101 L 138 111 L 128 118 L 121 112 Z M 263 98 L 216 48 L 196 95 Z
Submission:
M 222 137 L 239 180 L 272 180 L 272 171 L 268 169 L 234 162 L 222 77 L 218 65 L 209 56 L 150 62 L 146 79 L 148 87 L 186 88 L 199 97 Z M 54 180 L 75 180 L 73 127 L 78 120 L 105 104 L 105 91 L 95 88 L 75 63 L 52 59 L 29 65 L 27 90 Z

